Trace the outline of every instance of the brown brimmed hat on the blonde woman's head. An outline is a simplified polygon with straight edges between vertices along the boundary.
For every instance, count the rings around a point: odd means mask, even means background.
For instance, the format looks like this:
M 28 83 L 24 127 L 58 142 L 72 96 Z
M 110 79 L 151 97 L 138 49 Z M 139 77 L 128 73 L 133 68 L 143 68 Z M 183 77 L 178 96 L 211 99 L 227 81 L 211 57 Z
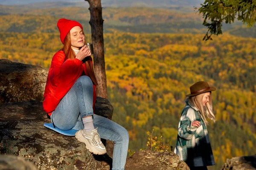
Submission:
M 198 94 L 215 91 L 215 87 L 210 87 L 207 82 L 196 82 L 192 86 L 190 86 L 190 94 L 186 96 L 196 96 Z

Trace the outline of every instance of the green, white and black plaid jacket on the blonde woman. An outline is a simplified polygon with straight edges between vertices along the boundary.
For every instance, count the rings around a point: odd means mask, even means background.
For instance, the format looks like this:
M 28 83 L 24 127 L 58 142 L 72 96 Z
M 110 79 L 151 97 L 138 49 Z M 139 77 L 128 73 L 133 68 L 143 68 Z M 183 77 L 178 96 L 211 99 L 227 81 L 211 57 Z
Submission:
M 214 165 L 207 127 L 198 112 L 197 108 L 186 101 L 180 116 L 174 152 L 180 156 L 180 160 L 192 167 Z M 191 126 L 195 120 L 199 121 L 201 126 Z

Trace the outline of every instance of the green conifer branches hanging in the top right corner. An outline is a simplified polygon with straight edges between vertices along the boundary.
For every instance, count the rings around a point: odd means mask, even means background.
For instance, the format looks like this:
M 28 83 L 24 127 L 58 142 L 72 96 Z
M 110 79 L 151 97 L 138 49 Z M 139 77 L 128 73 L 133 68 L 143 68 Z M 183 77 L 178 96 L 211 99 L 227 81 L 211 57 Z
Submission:
M 256 22 L 256 0 L 205 0 L 196 9 L 203 14 L 203 25 L 208 28 L 203 40 L 212 40 L 212 34 L 222 34 L 223 21 L 231 23 L 236 18 L 249 27 Z

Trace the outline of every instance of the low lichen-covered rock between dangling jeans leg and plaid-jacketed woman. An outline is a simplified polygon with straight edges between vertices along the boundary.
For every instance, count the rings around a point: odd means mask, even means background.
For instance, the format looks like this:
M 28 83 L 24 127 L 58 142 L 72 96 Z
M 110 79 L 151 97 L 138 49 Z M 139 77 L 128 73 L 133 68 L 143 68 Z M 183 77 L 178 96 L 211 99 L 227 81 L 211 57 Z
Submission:
M 125 170 L 189 170 L 175 153 L 141 150 L 127 159 Z

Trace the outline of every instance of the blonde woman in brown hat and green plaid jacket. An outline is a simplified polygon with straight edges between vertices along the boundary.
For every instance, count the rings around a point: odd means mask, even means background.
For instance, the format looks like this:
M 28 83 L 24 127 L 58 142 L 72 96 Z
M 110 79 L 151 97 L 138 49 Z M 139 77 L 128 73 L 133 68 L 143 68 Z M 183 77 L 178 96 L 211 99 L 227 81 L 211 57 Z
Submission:
M 180 116 L 174 152 L 190 170 L 207 170 L 207 166 L 215 164 L 206 127 L 206 118 L 215 121 L 211 95 L 215 90 L 207 82 L 197 82 L 186 95 L 189 98 Z

